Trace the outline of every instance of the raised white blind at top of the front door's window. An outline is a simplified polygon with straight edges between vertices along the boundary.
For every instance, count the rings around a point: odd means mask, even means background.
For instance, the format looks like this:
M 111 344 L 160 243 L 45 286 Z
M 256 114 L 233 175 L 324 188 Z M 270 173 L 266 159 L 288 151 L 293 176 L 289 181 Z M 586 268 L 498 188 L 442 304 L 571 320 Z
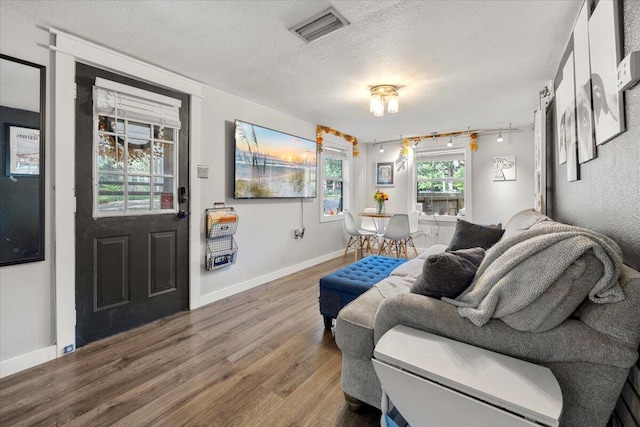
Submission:
M 96 78 L 94 110 L 107 115 L 180 129 L 182 101 L 155 92 Z

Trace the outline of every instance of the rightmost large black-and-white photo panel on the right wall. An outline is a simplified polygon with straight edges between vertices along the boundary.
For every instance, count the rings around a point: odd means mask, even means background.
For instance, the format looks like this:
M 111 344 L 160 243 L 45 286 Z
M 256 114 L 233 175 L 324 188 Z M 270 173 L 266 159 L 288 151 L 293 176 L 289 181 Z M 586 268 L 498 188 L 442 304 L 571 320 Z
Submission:
M 620 63 L 621 28 L 618 0 L 600 1 L 589 18 L 591 93 L 596 144 L 604 144 L 625 130 L 623 98 L 616 89 Z

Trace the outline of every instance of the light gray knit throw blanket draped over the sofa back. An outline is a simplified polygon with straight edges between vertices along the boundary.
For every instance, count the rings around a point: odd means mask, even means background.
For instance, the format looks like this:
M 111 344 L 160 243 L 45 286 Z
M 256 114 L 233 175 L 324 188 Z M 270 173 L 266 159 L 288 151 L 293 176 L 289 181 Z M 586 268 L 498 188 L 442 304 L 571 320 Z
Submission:
M 602 261 L 604 273 L 589 291 L 595 303 L 624 299 L 618 278 L 622 251 L 608 237 L 591 230 L 550 223 L 509 236 L 496 243 L 471 285 L 455 300 L 458 314 L 477 326 L 491 318 L 513 314 L 531 304 L 587 250 Z

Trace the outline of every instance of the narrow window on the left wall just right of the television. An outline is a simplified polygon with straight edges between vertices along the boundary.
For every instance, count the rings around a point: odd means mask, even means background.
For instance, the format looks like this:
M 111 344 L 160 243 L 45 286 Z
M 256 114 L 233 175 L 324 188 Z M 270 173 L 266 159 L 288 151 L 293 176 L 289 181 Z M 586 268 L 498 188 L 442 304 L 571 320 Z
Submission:
M 339 148 L 338 148 L 339 147 Z M 348 207 L 348 182 L 350 152 L 344 146 L 323 145 L 322 151 L 322 204 L 321 221 L 342 219 L 342 211 Z

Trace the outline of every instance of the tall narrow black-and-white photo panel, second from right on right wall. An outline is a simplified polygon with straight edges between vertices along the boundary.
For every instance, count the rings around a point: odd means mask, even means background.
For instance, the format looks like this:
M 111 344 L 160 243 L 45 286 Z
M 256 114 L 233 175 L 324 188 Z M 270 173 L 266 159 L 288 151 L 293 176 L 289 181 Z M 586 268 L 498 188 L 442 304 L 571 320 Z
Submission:
M 578 135 L 578 162 L 596 157 L 596 141 L 591 108 L 591 65 L 589 64 L 589 3 L 582 10 L 573 28 L 573 54 L 575 64 L 576 124 Z

